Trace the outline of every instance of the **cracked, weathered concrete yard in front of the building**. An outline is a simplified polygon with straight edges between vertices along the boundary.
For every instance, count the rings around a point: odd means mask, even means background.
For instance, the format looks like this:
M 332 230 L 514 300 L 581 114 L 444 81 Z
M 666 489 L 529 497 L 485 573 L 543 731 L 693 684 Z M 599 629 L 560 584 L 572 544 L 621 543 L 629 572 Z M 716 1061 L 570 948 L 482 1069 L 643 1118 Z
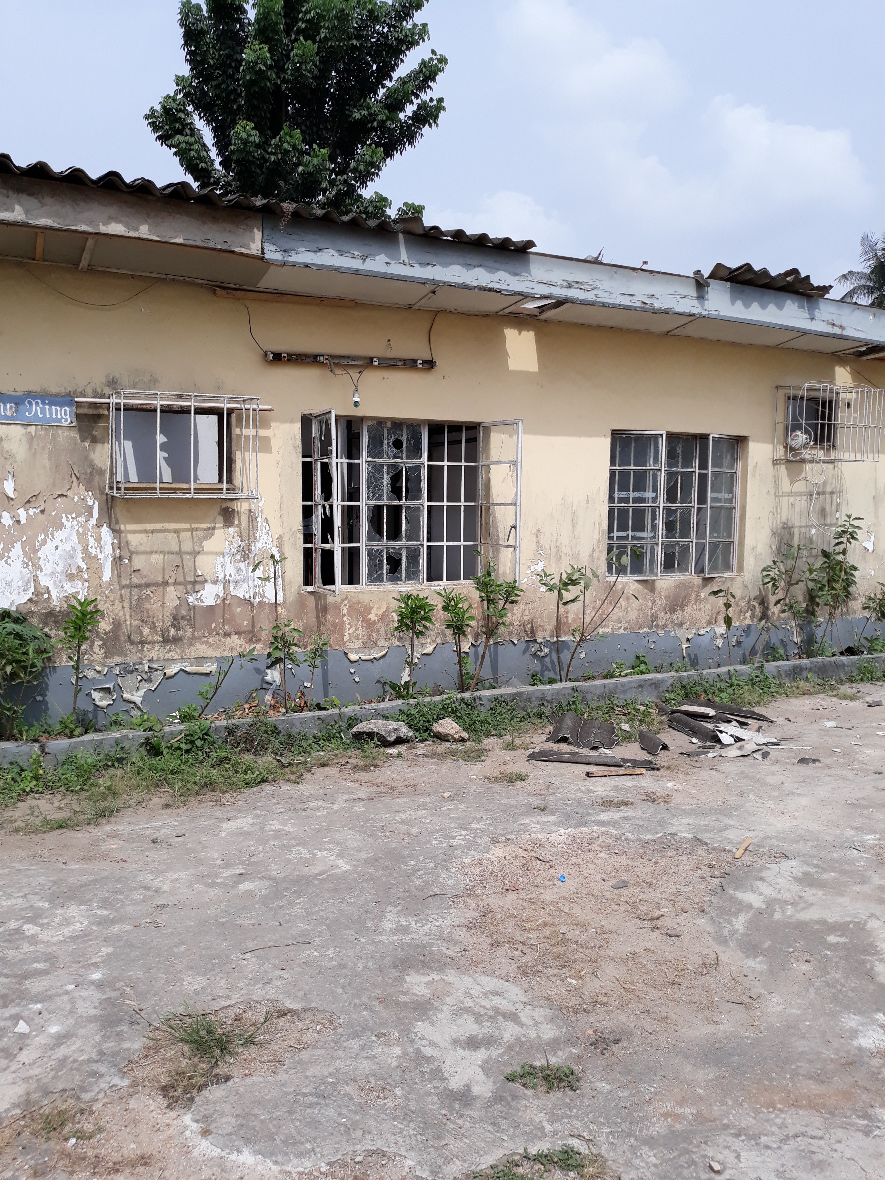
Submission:
M 0 1175 L 451 1178 L 592 1141 L 622 1180 L 885 1178 L 879 695 L 767 707 L 765 761 L 419 745 L 7 830 Z M 169 1108 L 146 1022 L 185 1004 L 286 1015 Z M 505 1080 L 545 1055 L 577 1092 Z

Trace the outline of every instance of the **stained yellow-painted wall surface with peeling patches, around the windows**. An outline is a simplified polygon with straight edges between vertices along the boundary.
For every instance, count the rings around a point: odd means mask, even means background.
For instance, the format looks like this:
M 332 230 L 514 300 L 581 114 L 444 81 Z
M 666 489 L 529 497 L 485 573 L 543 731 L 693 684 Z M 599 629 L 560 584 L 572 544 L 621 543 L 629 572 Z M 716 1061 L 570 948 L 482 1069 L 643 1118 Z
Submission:
M 245 302 L 262 348 L 428 354 L 432 313 L 287 299 Z M 353 414 L 350 382 L 320 366 L 268 363 L 249 334 L 245 302 L 186 282 L 0 262 L 0 392 L 192 391 L 260 395 L 274 407 L 262 420 L 260 510 L 198 500 L 109 500 L 106 414 L 79 413 L 77 428 L 67 431 L 0 425 L 0 480 L 14 472 L 15 484 L 14 497 L 0 492 L 4 604 L 20 603 L 53 623 L 66 594 L 87 586 L 106 611 L 106 658 L 261 645 L 260 629 L 273 621 L 273 603 L 230 592 L 215 605 L 188 601 L 206 579 L 216 579 L 216 560 L 225 549 L 229 557 L 238 551 L 248 558 L 260 512 L 288 557 L 286 608 L 299 625 L 329 635 L 333 647 L 389 641 L 389 591 L 347 589 L 335 598 L 304 594 L 300 584 L 300 417 L 329 407 Z M 863 362 L 858 371 L 787 348 L 500 316 L 440 314 L 433 353 L 439 362 L 433 372 L 368 371 L 359 413 L 417 421 L 523 419 L 522 577 L 527 579 L 516 620 L 520 634 L 537 636 L 552 632 L 552 601 L 539 594 L 530 568 L 586 562 L 604 569 L 612 430 L 715 432 L 746 440 L 733 582 L 735 620 L 750 621 L 759 612 L 759 572 L 778 538 L 808 539 L 804 467 L 772 461 L 775 385 L 885 384 L 881 362 Z M 838 497 L 839 511 L 863 516 L 865 527 L 885 543 L 880 472 L 876 463 L 828 466 L 818 518 L 832 526 Z M 110 564 L 103 526 L 113 533 Z M 863 592 L 883 571 L 878 552 L 858 548 L 856 559 Z M 700 578 L 632 583 L 609 629 L 708 625 L 716 609 L 708 591 L 720 584 Z

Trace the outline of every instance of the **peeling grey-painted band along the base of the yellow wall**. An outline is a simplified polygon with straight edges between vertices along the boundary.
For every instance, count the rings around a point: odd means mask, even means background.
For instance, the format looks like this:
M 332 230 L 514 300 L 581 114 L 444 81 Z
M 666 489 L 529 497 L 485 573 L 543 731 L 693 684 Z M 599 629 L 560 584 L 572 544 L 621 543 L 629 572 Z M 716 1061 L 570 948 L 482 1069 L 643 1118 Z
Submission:
M 830 634 L 827 640 L 837 650 L 857 642 L 866 620 L 843 620 L 839 634 Z M 865 636 L 881 635 L 881 625 L 866 628 Z M 818 630 L 818 638 L 822 629 Z M 732 661 L 748 663 L 754 656 L 771 653 L 773 647 L 793 656 L 799 647 L 792 627 L 779 627 L 765 638 L 760 638 L 755 624 L 733 627 L 730 635 Z M 813 640 L 813 629 L 804 629 L 801 641 L 807 649 Z M 560 641 L 559 649 L 563 671 L 571 654 L 571 641 Z M 720 628 L 686 628 L 661 631 L 634 631 L 601 636 L 584 645 L 572 662 L 571 677 L 598 676 L 617 661 L 628 668 L 637 655 L 661 671 L 688 664 L 691 669 L 728 667 L 728 642 Z M 479 658 L 479 649 L 471 647 L 472 661 Z M 199 689 L 212 681 L 217 658 L 157 660 L 148 663 L 116 663 L 87 668 L 83 678 L 83 690 L 78 713 L 90 716 L 94 726 L 105 728 L 114 713 L 152 713 L 168 717 L 182 704 L 202 704 Z M 557 677 L 556 643 L 552 640 L 507 640 L 493 644 L 483 669 L 484 680 L 498 688 L 527 686 L 532 674 L 542 680 Z M 287 687 L 293 695 L 306 688 L 309 669 L 291 668 L 287 674 Z M 314 700 L 330 701 L 335 697 L 342 704 L 359 704 L 385 695 L 385 682 L 400 684 L 408 678 L 407 650 L 402 645 L 387 648 L 358 648 L 349 651 L 329 651 L 314 681 Z M 444 693 L 457 688 L 457 663 L 451 643 L 437 643 L 421 651 L 415 661 L 414 680 L 418 687 Z M 235 658 L 218 695 L 212 701 L 211 712 L 229 708 L 253 694 L 267 701 L 274 693 L 280 696 L 278 673 L 268 675 L 266 657 L 254 661 Z M 48 715 L 57 722 L 71 712 L 73 696 L 70 667 L 47 668 L 40 683 L 26 690 L 25 720 L 39 722 Z

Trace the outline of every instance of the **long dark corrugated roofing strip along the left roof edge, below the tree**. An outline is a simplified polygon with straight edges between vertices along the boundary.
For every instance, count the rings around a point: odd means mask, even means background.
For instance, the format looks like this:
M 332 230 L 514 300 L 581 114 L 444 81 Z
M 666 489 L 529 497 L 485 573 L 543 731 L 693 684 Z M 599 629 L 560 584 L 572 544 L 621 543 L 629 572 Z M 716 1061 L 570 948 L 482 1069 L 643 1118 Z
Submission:
M 304 221 L 328 221 L 341 225 L 358 225 L 360 229 L 381 229 L 391 234 L 411 234 L 414 237 L 450 237 L 455 242 L 467 242 L 471 245 L 489 245 L 496 250 L 518 250 L 524 253 L 535 248 L 531 238 L 514 241 L 512 237 L 490 237 L 489 234 L 467 234 L 463 229 L 441 229 L 439 225 L 425 225 L 420 217 L 407 221 L 367 221 L 359 214 L 339 215 L 334 209 L 317 209 L 315 205 L 284 205 L 278 201 L 263 201 L 260 197 L 248 197 L 237 194 L 222 197 L 215 189 L 195 189 L 186 181 L 162 186 L 139 177 L 137 181 L 125 181 L 119 172 L 104 172 L 101 176 L 90 176 L 81 168 L 66 168 L 57 172 L 42 160 L 20 166 L 6 152 L 0 152 L 0 173 L 25 176 L 34 181 L 57 181 L 61 184 L 78 184 L 87 189 L 113 189 L 117 192 L 129 192 L 143 197 L 164 197 L 169 201 L 188 201 L 192 204 L 215 205 L 217 209 L 269 210 L 280 216 L 301 217 Z

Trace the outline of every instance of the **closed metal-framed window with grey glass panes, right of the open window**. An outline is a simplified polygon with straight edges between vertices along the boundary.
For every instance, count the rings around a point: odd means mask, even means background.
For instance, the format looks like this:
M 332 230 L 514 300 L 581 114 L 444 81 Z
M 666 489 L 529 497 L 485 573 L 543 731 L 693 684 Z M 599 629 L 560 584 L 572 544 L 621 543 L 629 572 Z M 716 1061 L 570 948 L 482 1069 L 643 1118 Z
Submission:
M 734 573 L 739 458 L 722 434 L 612 433 L 609 575 Z

